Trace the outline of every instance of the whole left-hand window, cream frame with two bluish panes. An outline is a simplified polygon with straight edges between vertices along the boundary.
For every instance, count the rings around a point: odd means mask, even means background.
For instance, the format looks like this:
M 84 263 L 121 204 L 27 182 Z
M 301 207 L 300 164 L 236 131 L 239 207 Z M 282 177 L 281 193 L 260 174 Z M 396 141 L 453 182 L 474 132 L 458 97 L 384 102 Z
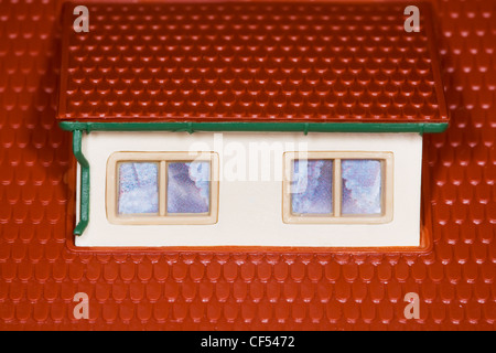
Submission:
M 114 224 L 215 224 L 218 154 L 116 152 L 107 162 L 106 193 Z

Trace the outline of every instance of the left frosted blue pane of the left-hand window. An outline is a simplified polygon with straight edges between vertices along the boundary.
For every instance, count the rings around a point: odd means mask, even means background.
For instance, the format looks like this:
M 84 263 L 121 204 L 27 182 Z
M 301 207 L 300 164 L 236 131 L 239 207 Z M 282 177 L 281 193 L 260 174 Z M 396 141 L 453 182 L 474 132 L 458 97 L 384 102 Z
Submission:
M 159 212 L 158 167 L 149 162 L 119 163 L 119 214 Z

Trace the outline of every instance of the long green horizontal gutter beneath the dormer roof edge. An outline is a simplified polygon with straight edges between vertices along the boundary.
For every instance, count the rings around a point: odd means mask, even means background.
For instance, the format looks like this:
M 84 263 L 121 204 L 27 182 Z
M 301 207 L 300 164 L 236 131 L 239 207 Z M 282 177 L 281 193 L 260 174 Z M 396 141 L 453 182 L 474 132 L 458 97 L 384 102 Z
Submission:
M 61 121 L 74 131 L 301 131 L 308 132 L 443 132 L 448 122 L 80 122 Z

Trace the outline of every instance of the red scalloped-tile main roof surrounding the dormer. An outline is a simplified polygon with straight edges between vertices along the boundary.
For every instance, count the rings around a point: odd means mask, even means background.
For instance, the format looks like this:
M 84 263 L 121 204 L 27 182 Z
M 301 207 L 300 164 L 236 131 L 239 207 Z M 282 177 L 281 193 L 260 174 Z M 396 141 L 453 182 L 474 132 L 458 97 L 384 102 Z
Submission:
M 71 252 L 60 3 L 0 2 L 0 329 L 496 329 L 496 3 L 435 1 L 446 133 L 425 137 L 424 255 Z M 76 292 L 89 320 L 73 318 Z M 420 320 L 402 315 L 407 292 Z

